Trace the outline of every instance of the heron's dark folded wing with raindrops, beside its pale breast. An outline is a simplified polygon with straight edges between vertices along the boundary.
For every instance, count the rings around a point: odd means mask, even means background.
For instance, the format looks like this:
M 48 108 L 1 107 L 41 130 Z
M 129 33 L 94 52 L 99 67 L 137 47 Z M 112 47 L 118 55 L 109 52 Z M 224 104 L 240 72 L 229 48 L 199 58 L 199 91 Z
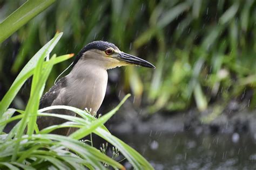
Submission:
M 52 105 L 53 101 L 58 97 L 60 89 L 66 87 L 65 77 L 59 79 L 56 84 L 54 84 L 48 92 L 46 92 L 40 100 L 39 109 L 49 107 Z

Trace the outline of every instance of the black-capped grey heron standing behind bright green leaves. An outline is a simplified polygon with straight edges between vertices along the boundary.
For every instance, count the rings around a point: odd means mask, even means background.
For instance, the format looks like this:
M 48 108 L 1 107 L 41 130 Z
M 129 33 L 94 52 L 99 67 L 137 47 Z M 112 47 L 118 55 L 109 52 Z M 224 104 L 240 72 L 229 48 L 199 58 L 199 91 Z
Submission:
M 107 87 L 107 70 L 137 65 L 156 68 L 152 63 L 120 51 L 107 41 L 92 41 L 76 56 L 71 71 L 55 83 L 40 100 L 39 109 L 52 105 L 68 105 L 82 110 L 90 110 L 95 115 L 102 105 Z M 75 112 L 65 109 L 50 110 L 50 113 L 76 116 Z M 65 119 L 41 116 L 37 119 L 39 130 L 51 125 L 62 124 Z M 75 128 L 60 128 L 51 133 L 69 136 Z

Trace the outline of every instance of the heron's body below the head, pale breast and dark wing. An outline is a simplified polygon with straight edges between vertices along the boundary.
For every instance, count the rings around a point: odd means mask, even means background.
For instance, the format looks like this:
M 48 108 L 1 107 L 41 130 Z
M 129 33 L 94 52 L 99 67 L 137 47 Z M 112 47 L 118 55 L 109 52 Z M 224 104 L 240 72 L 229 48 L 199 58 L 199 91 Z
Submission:
M 76 69 L 80 64 L 85 64 L 83 74 L 78 75 Z M 96 72 L 97 74 L 92 74 Z M 79 77 L 80 76 L 80 77 Z M 100 84 L 100 86 L 98 86 Z M 107 72 L 100 67 L 91 68 L 86 66 L 86 62 L 78 62 L 72 71 L 60 79 L 41 99 L 41 108 L 50 105 L 69 105 L 75 108 L 91 110 L 95 115 L 103 102 L 107 86 Z M 88 90 L 90 89 L 90 90 Z M 53 110 L 52 113 L 75 116 L 75 113 L 69 110 Z M 41 117 L 38 119 L 40 129 L 49 125 L 66 122 L 64 119 L 53 117 Z M 42 124 L 43 123 L 43 124 Z M 67 135 L 70 133 L 68 128 L 58 129 L 54 133 Z

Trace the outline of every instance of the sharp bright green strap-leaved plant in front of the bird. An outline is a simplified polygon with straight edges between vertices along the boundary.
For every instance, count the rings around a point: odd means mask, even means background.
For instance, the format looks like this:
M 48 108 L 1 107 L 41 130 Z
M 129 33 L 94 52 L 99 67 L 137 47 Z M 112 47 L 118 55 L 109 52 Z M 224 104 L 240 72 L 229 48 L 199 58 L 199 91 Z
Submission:
M 53 55 L 50 59 L 47 59 L 61 36 L 62 33 L 56 34 L 52 40 L 32 57 L 30 62 L 22 69 L 22 72 L 14 81 L 10 92 L 8 91 L 1 101 L 0 168 L 84 169 L 87 167 L 89 169 L 106 169 L 104 165 L 107 165 L 113 168 L 124 169 L 119 162 L 107 157 L 107 155 L 100 152 L 97 148 L 78 140 L 91 133 L 95 133 L 113 146 L 116 146 L 116 151 L 120 151 L 134 168 L 153 169 L 149 162 L 137 151 L 133 150 L 133 148 L 125 144 L 122 140 L 114 137 L 103 125 L 116 113 L 130 95 L 126 95 L 116 108 L 98 119 L 84 110 L 68 106 L 52 106 L 38 110 L 39 100 L 43 94 L 44 85 L 52 66 L 72 56 L 70 54 L 58 57 Z M 46 61 L 44 60 L 45 58 Z M 33 76 L 33 79 L 30 98 L 26 109 L 7 109 L 10 102 L 14 100 L 17 91 L 30 76 Z M 47 110 L 55 109 L 68 109 L 76 112 L 80 117 L 48 114 L 46 112 Z M 19 112 L 20 115 L 11 117 L 15 111 Z M 68 122 L 53 125 L 39 131 L 36 124 L 37 116 L 59 117 L 66 119 Z M 15 120 L 19 121 L 15 127 L 8 134 L 3 134 L 2 132 L 5 125 Z M 69 137 L 49 134 L 55 129 L 66 127 L 79 129 L 70 134 Z M 26 134 L 24 134 L 25 128 L 27 128 Z

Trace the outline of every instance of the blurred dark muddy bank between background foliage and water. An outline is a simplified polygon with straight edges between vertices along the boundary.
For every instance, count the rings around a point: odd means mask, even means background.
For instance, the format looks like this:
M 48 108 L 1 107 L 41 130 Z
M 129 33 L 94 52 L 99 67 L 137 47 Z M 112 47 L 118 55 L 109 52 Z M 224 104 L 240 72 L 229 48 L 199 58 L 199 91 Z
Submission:
M 238 108 L 237 108 L 238 107 Z M 190 131 L 194 134 L 210 133 L 248 133 L 256 138 L 256 111 L 249 110 L 242 104 L 235 108 L 227 107 L 213 121 L 203 121 L 211 117 L 214 107 L 204 112 L 191 109 L 187 112 L 145 114 L 144 109 L 132 110 L 126 103 L 114 115 L 108 128 L 113 133 L 178 133 Z

